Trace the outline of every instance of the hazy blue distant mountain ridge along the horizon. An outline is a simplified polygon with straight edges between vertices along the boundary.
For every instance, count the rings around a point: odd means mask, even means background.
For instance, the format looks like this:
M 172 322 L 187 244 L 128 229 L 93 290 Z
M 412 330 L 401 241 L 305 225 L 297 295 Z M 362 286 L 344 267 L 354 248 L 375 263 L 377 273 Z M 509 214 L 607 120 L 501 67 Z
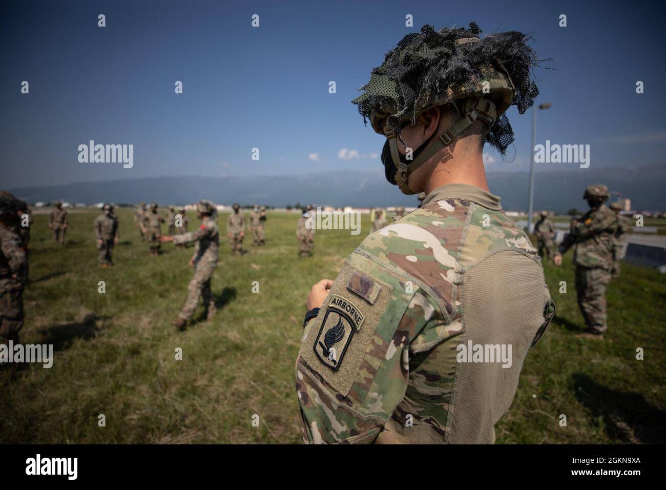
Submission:
M 527 209 L 527 173 L 492 172 L 492 193 L 501 196 L 507 210 Z M 571 207 L 583 209 L 585 186 L 604 183 L 631 199 L 633 209 L 666 210 L 666 165 L 613 167 L 585 171 L 538 172 L 535 174 L 535 209 L 563 213 Z M 63 199 L 71 203 L 187 204 L 198 199 L 215 203 L 238 202 L 284 206 L 300 203 L 356 207 L 415 205 L 415 196 L 400 193 L 384 179 L 383 171 L 313 173 L 290 177 L 155 177 L 104 182 L 82 182 L 50 187 L 10 189 L 29 203 Z

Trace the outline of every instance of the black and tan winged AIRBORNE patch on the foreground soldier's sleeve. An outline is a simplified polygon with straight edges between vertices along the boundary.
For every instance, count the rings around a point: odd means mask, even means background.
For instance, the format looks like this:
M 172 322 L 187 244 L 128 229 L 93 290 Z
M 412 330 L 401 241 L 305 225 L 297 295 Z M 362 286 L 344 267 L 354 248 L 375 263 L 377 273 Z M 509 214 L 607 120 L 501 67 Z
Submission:
M 328 303 L 319 334 L 314 339 L 314 353 L 322 363 L 333 371 L 340 369 L 352 337 L 360 329 L 363 319 L 363 313 L 354 306 L 354 303 L 333 295 Z

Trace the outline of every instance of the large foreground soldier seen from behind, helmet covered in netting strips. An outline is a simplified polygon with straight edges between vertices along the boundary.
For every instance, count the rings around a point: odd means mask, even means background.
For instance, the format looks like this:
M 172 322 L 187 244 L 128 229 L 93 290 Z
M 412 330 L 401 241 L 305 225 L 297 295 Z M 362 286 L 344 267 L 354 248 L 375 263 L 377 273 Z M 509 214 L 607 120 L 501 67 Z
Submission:
M 500 153 L 513 141 L 503 113 L 533 103 L 535 53 L 521 33 L 480 32 L 407 35 L 354 100 L 387 137 L 388 181 L 427 197 L 308 295 L 296 361 L 308 442 L 493 443 L 554 313 L 536 250 L 488 191 L 482 153 L 484 141 Z M 471 362 L 472 343 L 511 346 L 510 361 L 498 351 Z

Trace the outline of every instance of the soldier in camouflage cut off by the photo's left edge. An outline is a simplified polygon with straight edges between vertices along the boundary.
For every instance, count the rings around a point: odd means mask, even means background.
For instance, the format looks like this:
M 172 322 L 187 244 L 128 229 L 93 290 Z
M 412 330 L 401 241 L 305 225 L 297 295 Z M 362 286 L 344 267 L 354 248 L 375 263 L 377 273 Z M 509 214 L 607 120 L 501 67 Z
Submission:
M 0 341 L 14 343 L 23 327 L 23 289 L 28 279 L 28 253 L 17 233 L 19 207 L 11 194 L 0 196 Z

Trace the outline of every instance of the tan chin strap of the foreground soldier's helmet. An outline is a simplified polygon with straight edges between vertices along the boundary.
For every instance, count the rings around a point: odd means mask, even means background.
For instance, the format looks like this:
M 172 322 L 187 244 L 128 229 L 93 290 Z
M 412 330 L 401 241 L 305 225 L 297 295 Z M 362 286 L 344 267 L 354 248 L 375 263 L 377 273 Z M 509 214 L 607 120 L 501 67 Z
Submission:
M 446 147 L 465 131 L 468 127 L 474 124 L 474 121 L 481 119 L 488 123 L 488 128 L 494 125 L 497 119 L 497 109 L 495 104 L 484 97 L 470 97 L 465 102 L 465 115 L 456 122 L 452 127 L 443 131 L 437 138 L 432 138 L 429 145 L 427 145 L 423 151 L 418 152 L 414 155 L 414 160 L 409 165 L 400 161 L 400 152 L 398 151 L 398 138 L 396 133 L 386 125 L 384 127 L 384 134 L 388 138 L 388 145 L 391 149 L 391 158 L 393 159 L 393 164 L 396 166 L 396 183 L 402 193 L 407 195 L 416 194 L 412 191 L 408 184 L 407 179 L 410 174 L 414 172 L 418 167 L 426 163 L 432 155 L 440 151 L 440 149 Z

